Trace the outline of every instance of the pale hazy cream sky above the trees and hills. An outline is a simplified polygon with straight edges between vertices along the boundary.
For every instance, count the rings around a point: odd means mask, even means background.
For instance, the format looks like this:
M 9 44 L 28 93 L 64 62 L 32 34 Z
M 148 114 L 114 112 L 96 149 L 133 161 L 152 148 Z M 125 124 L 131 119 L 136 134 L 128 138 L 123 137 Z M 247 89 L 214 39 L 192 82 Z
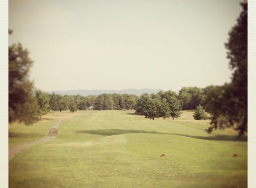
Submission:
M 9 0 L 9 44 L 44 91 L 222 85 L 241 1 Z

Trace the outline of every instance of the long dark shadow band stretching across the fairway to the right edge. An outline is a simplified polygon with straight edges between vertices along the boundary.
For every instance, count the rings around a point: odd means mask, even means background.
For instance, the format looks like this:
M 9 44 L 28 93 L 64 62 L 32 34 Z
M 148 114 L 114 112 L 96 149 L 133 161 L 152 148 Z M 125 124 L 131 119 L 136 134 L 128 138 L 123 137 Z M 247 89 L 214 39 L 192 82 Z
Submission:
M 219 140 L 219 141 L 240 141 L 247 142 L 247 136 L 237 138 L 236 135 L 215 135 L 215 136 L 193 136 L 193 135 L 184 135 L 184 134 L 174 134 L 174 133 L 161 133 L 157 131 L 145 131 L 145 130 L 123 130 L 123 129 L 97 129 L 97 130 L 86 130 L 86 131 L 76 131 L 79 134 L 92 134 L 92 135 L 102 135 L 102 136 L 111 136 L 111 135 L 122 135 L 128 133 L 146 133 L 146 134 L 160 134 L 160 135 L 177 135 L 185 136 L 194 139 L 205 139 L 205 140 Z

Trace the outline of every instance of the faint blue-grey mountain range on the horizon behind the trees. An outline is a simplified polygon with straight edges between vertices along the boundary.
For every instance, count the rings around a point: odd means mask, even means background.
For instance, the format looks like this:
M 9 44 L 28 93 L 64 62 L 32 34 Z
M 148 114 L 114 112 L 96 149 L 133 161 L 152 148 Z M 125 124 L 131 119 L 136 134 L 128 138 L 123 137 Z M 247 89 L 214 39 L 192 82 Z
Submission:
M 152 89 L 125 89 L 125 90 L 63 90 L 63 91 L 58 91 L 58 90 L 53 90 L 53 91 L 48 91 L 47 93 L 52 94 L 53 92 L 55 94 L 60 94 L 60 95 L 83 95 L 83 96 L 88 96 L 88 95 L 99 95 L 99 94 L 135 94 L 135 95 L 142 95 L 144 93 L 147 94 L 157 94 L 159 91 L 166 91 L 166 90 L 152 90 Z M 177 92 L 176 92 L 177 93 Z

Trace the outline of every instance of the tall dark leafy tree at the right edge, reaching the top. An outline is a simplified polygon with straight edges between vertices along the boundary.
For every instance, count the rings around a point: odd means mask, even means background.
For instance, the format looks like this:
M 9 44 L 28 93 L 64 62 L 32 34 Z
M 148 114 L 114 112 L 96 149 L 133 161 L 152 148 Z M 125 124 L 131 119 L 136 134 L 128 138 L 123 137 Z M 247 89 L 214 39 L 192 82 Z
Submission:
M 232 81 L 211 88 L 206 97 L 206 111 L 211 115 L 208 133 L 226 127 L 239 131 L 239 137 L 248 132 L 248 3 L 241 6 L 243 10 L 225 44 Z

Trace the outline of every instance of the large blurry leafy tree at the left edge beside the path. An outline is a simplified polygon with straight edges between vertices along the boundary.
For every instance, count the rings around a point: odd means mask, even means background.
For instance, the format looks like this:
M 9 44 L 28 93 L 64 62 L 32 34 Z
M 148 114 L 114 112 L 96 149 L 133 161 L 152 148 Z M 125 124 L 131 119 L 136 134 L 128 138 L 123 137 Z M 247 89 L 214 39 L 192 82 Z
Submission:
M 13 31 L 9 30 L 9 34 Z M 20 43 L 8 47 L 8 115 L 9 123 L 24 122 L 26 125 L 38 121 L 37 101 L 34 85 L 29 80 L 33 61 L 27 49 Z

